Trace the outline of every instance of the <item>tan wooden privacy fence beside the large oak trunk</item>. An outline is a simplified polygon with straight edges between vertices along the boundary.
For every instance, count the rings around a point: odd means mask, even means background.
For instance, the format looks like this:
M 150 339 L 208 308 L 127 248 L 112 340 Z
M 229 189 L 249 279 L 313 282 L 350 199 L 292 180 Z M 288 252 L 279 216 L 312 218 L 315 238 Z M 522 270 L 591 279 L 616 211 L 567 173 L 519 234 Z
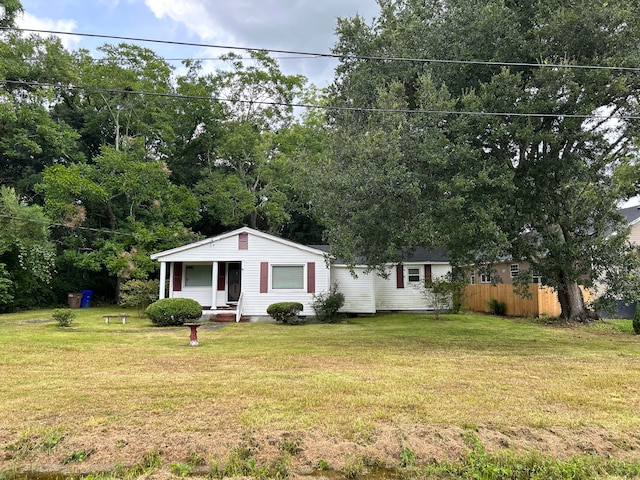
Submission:
M 549 287 L 529 284 L 530 297 L 521 297 L 513 291 L 513 285 L 468 285 L 466 306 L 474 312 L 489 313 L 489 300 L 496 299 L 507 306 L 506 314 L 514 317 L 538 317 L 542 314 L 555 317 L 560 315 L 561 308 L 558 295 Z M 582 291 L 585 301 L 589 294 Z

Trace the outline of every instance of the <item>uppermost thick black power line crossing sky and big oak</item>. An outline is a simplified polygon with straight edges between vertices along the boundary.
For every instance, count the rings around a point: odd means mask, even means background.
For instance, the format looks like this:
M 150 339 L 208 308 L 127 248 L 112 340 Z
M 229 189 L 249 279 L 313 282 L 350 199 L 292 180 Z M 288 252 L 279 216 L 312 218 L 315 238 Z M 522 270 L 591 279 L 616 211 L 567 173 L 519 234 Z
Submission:
M 269 52 L 269 53 L 303 56 L 304 58 L 332 58 L 332 59 L 338 59 L 338 60 L 372 60 L 372 61 L 385 61 L 385 62 L 393 61 L 393 62 L 414 62 L 414 63 L 486 65 L 486 66 L 496 66 L 496 67 L 571 68 L 571 69 L 588 69 L 588 70 L 617 70 L 617 71 L 640 72 L 640 67 L 620 67 L 620 66 L 608 66 L 608 65 L 571 65 L 571 64 L 565 64 L 565 63 L 496 62 L 496 61 L 485 61 L 485 60 L 457 60 L 457 59 L 420 58 L 420 57 L 343 55 L 338 53 L 305 52 L 300 50 L 284 50 L 284 49 L 264 48 L 264 47 L 240 47 L 237 45 L 219 45 L 219 44 L 211 44 L 211 43 L 182 42 L 182 41 L 176 41 L 176 40 L 159 40 L 159 39 L 153 39 L 153 38 L 129 37 L 129 36 L 121 36 L 121 35 L 106 35 L 106 34 L 99 34 L 99 33 L 74 33 L 74 32 L 63 32 L 60 30 L 43 30 L 43 29 L 35 29 L 35 28 L 0 27 L 0 30 L 14 30 L 19 32 L 44 33 L 48 35 L 70 35 L 70 36 L 76 36 L 76 37 L 103 38 L 108 40 L 125 40 L 130 42 L 158 43 L 158 44 L 164 44 L 164 45 L 179 45 L 179 46 L 186 46 L 186 47 L 216 48 L 216 49 L 224 49 L 224 50 L 242 50 L 247 52 L 263 51 L 263 52 Z

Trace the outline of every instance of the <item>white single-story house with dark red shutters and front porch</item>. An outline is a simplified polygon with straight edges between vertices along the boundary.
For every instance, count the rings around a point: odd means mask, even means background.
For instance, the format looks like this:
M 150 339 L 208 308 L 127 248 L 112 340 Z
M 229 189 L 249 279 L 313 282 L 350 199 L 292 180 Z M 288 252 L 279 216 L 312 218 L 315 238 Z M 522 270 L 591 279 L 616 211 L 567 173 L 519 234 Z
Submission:
M 160 262 L 160 298 L 191 298 L 204 314 L 233 314 L 236 321 L 264 317 L 276 302 L 300 302 L 301 314 L 313 315 L 314 295 L 334 283 L 345 296 L 345 313 L 433 310 L 424 282 L 451 271 L 442 254 L 417 250 L 389 265 L 388 275 L 356 266 L 354 277 L 327 250 L 243 227 L 151 258 Z

